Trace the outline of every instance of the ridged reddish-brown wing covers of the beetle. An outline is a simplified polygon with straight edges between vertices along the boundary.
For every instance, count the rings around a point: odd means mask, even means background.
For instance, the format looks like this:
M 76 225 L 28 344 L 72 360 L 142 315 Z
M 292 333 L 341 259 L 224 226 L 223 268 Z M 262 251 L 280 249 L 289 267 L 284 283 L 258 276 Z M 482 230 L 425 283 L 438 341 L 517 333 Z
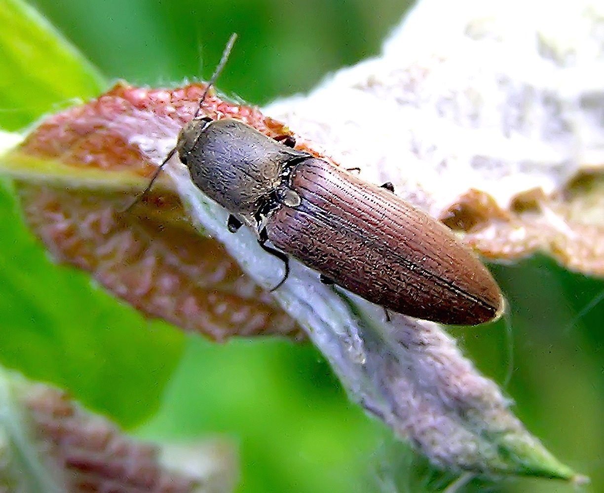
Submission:
M 298 164 L 297 207 L 266 223 L 271 242 L 385 308 L 442 323 L 493 319 L 501 293 L 487 269 L 438 221 L 392 192 L 321 159 Z

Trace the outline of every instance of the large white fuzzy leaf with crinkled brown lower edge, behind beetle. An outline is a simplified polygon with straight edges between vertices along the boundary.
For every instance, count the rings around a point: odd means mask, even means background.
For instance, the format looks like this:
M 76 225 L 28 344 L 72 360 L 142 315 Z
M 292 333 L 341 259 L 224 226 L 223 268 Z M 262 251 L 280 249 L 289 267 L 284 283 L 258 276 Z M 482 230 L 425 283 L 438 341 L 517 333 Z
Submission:
M 425 0 L 381 56 L 266 113 L 464 233 L 604 275 L 604 4 Z

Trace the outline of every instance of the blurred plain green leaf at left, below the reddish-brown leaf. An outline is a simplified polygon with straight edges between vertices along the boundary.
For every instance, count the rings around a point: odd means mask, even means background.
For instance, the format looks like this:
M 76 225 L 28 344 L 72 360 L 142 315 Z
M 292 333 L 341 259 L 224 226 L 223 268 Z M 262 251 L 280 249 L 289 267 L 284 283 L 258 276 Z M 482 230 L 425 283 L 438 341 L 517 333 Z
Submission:
M 146 322 L 87 275 L 54 265 L 0 186 L 0 362 L 69 389 L 125 425 L 152 413 L 184 337 Z M 133 398 L 133 396 L 136 396 Z

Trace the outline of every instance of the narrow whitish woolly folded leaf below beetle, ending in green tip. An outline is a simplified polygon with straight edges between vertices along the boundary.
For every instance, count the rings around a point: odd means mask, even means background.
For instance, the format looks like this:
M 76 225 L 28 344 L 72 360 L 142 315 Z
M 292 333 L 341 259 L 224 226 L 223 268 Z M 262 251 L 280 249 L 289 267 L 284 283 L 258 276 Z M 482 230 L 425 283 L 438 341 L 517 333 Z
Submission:
M 225 244 L 260 285 L 272 287 L 281 265 L 247 229 L 231 234 L 228 213 L 201 194 L 184 166 L 167 168 L 196 224 Z M 509 410 L 493 381 L 463 357 L 439 325 L 393 314 L 339 288 L 292 261 L 275 291 L 281 306 L 306 329 L 353 399 L 410 439 L 433 462 L 486 474 L 533 471 L 570 479 Z

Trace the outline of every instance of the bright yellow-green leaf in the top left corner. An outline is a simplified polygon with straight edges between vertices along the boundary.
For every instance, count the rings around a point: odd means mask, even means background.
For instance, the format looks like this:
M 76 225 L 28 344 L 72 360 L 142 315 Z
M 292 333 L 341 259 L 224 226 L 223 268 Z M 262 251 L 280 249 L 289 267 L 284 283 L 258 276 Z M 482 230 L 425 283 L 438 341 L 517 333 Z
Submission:
M 0 127 L 18 130 L 43 113 L 91 98 L 104 78 L 33 8 L 0 0 Z

